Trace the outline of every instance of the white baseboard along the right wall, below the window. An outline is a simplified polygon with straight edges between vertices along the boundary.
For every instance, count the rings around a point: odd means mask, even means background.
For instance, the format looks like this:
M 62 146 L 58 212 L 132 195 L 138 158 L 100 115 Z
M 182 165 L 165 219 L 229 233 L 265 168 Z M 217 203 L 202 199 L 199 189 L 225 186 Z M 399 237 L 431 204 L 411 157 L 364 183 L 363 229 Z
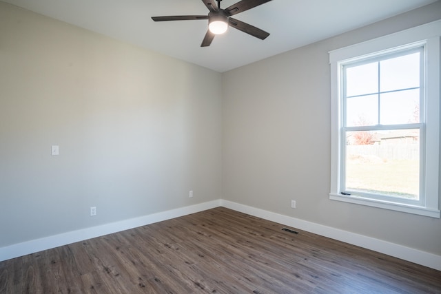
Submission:
M 316 224 L 314 222 L 307 222 L 305 220 L 299 220 L 298 218 L 291 218 L 290 216 L 283 216 L 271 211 L 265 211 L 263 209 L 257 209 L 255 207 L 249 207 L 244 204 L 238 204 L 227 200 L 220 200 L 221 206 L 247 213 L 258 218 L 265 220 L 271 220 L 272 222 L 278 222 L 285 224 L 286 226 L 297 228 L 303 231 L 316 233 L 327 238 L 346 242 L 356 246 L 360 246 L 365 249 L 370 249 L 387 255 L 391 255 L 395 258 L 407 260 L 416 264 L 430 267 L 441 271 L 441 256 L 433 253 L 412 249 L 399 244 L 379 240 L 376 238 L 367 237 L 365 235 L 359 235 L 348 231 L 342 231 L 332 227 L 327 227 L 322 224 Z

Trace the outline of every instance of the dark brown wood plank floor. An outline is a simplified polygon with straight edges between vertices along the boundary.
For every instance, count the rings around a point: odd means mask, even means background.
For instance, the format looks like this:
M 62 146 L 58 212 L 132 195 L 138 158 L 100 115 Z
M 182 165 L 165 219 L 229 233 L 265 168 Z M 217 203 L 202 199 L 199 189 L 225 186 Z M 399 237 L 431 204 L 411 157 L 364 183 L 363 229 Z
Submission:
M 223 207 L 0 262 L 0 293 L 441 293 L 441 271 Z

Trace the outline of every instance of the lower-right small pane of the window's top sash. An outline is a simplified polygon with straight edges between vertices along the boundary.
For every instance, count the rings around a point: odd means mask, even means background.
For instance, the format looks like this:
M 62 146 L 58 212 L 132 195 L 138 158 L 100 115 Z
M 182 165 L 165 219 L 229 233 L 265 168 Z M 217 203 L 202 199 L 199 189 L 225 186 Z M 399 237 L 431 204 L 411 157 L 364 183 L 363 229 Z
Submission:
M 420 122 L 420 90 L 380 95 L 380 123 L 394 125 Z

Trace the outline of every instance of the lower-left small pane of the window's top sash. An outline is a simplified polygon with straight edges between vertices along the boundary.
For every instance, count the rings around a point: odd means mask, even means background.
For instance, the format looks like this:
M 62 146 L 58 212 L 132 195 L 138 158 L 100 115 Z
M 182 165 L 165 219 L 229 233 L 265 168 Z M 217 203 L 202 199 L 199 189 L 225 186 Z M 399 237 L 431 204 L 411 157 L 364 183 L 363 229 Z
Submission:
M 378 95 L 346 99 L 346 126 L 378 124 Z

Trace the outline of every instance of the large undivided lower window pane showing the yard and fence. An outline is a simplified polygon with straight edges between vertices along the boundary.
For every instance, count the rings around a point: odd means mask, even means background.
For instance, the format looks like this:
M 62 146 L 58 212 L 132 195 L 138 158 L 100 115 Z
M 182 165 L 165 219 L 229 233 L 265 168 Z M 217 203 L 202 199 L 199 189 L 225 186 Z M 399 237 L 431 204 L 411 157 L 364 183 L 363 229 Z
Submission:
M 419 199 L 420 130 L 347 132 L 345 191 Z

